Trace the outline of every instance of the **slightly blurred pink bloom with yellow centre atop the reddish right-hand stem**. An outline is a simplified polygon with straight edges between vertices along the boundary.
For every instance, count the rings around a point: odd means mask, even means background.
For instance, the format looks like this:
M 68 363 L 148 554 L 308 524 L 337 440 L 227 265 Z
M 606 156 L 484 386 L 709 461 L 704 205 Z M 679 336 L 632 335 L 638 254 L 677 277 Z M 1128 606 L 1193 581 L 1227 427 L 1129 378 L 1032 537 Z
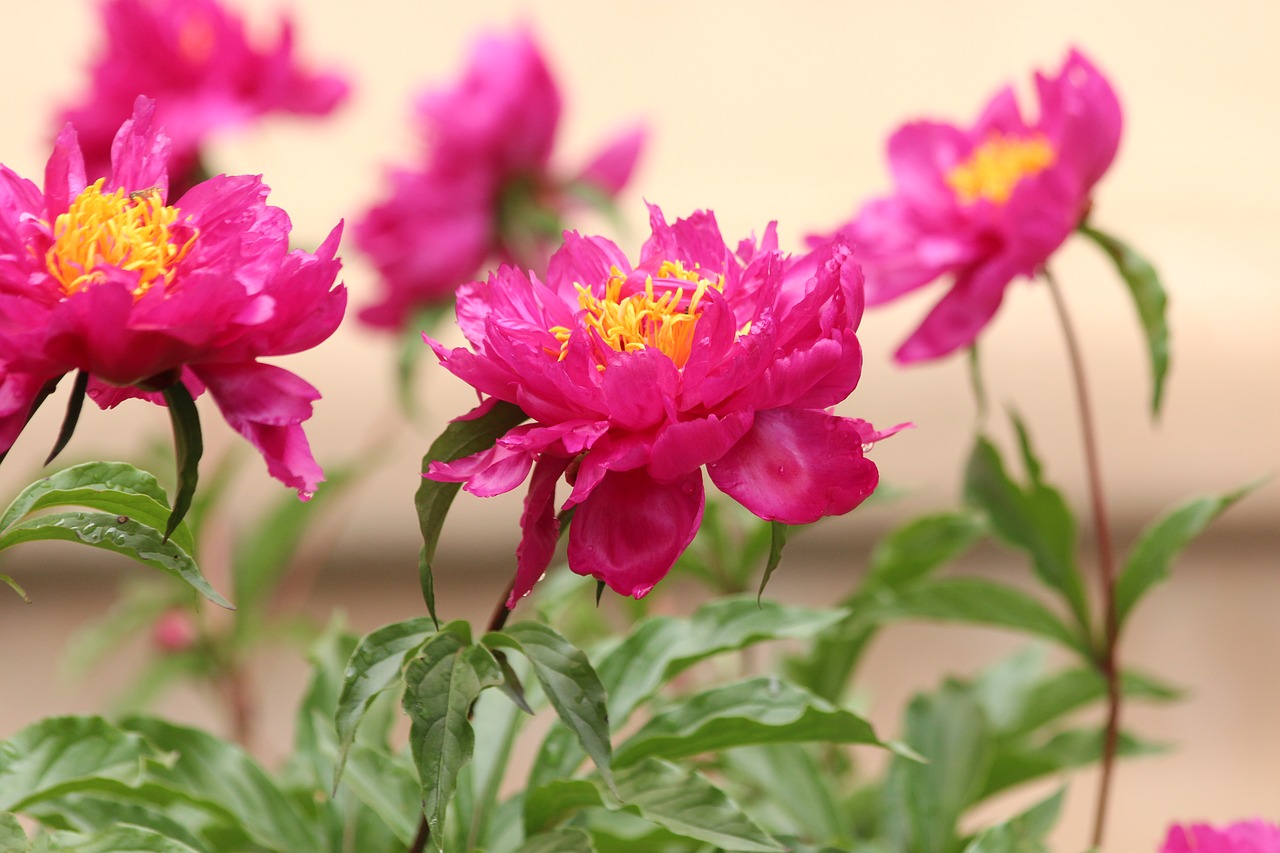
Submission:
M 1074 50 L 1056 77 L 1037 73 L 1036 86 L 1036 123 L 1021 117 L 1006 87 L 968 129 L 941 122 L 901 127 L 888 142 L 896 192 L 870 201 L 840 229 L 858 251 L 868 305 L 952 279 L 897 350 L 900 362 L 973 343 L 1005 287 L 1034 275 L 1088 214 L 1089 192 L 1120 142 L 1120 102 Z

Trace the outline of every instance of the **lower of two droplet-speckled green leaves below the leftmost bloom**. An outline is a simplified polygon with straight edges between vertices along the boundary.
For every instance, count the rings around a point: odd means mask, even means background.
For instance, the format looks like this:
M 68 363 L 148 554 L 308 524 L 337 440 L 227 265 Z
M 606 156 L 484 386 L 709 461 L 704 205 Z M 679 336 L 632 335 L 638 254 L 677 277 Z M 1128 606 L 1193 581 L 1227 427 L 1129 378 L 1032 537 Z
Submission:
M 125 520 L 120 521 L 122 517 Z M 81 542 L 95 548 L 123 553 L 182 580 L 215 605 L 236 610 L 230 602 L 209 585 L 205 576 L 200 574 L 196 561 L 173 539 L 166 542 L 159 530 L 134 519 L 108 512 L 41 515 L 20 521 L 0 535 L 0 551 L 22 542 L 45 539 Z

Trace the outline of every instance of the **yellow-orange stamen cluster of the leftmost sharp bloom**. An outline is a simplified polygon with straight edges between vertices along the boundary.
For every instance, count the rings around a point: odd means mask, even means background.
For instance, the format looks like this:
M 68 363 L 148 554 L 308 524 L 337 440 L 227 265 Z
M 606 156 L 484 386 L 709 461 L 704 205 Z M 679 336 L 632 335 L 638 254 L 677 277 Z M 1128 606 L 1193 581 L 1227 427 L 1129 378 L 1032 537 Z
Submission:
M 196 243 L 198 231 L 178 222 L 178 209 L 155 190 L 102 193 L 102 179 L 84 190 L 54 222 L 45 266 L 72 296 L 104 279 L 104 269 L 136 272 L 134 298 L 156 282 L 173 282 L 174 268 Z

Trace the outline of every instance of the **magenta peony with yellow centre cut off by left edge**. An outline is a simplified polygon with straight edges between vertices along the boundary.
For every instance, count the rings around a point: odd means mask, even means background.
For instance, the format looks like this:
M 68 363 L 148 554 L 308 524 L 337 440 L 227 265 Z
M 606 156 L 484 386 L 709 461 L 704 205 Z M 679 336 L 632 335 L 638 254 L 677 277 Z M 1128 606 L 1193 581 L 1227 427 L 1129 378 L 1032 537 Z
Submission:
M 0 167 L 0 453 L 67 373 L 102 409 L 183 382 L 305 496 L 323 479 L 302 433 L 319 393 L 259 362 L 307 350 L 342 320 L 339 224 L 289 251 L 289 218 L 259 177 L 219 175 L 169 202 L 169 140 L 138 99 L 90 182 L 68 126 L 45 190 Z

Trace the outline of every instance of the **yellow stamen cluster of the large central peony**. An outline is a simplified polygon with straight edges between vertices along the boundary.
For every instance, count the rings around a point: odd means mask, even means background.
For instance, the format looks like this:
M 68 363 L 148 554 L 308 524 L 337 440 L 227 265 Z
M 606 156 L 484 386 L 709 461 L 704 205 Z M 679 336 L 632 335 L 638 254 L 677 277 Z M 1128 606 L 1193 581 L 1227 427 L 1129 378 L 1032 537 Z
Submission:
M 657 277 L 645 278 L 643 293 L 622 296 L 626 275 L 617 266 L 612 273 L 604 284 L 604 298 L 575 284 L 577 302 L 585 311 L 581 315 L 582 327 L 594 329 L 600 341 L 616 352 L 657 347 L 677 368 L 684 368 L 694 345 L 698 306 L 707 288 L 724 292 L 724 277 L 704 278 L 696 268 L 686 270 L 680 261 L 663 261 Z M 660 296 L 655 295 L 655 278 Z M 691 287 L 686 287 L 686 283 Z M 550 332 L 561 342 L 559 357 L 563 359 L 568 351 L 570 329 L 558 325 Z

